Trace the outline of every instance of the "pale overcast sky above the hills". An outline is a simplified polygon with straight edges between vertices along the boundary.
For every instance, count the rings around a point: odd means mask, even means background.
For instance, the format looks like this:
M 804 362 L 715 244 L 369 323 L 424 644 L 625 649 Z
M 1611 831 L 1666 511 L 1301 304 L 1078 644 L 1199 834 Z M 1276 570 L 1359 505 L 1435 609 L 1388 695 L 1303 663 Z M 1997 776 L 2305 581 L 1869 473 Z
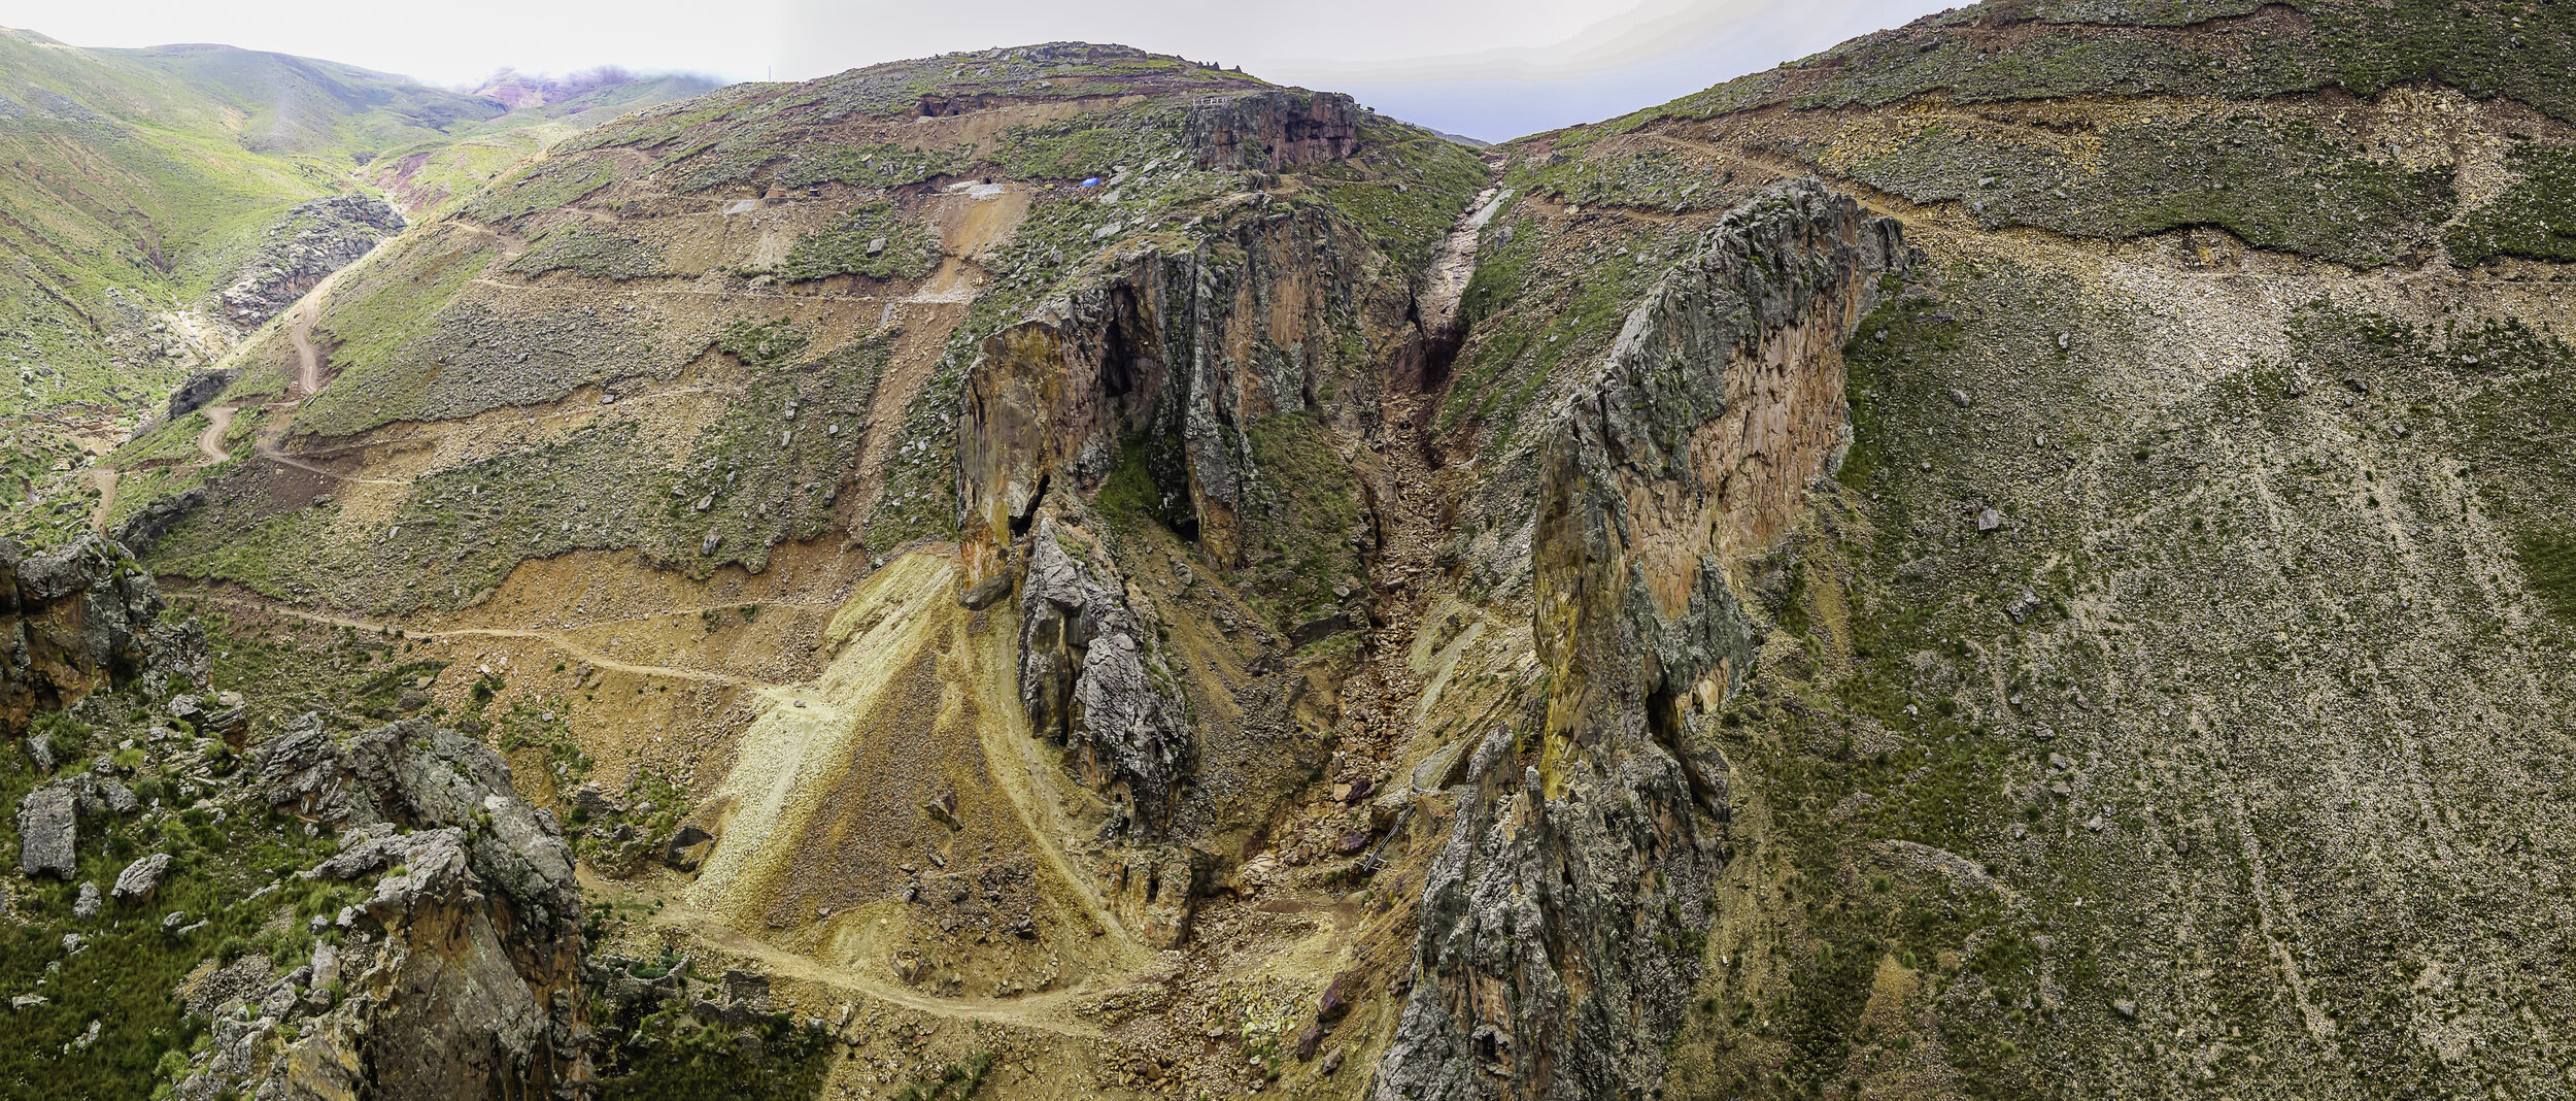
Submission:
M 595 64 L 801 80 L 951 49 L 1123 41 L 1504 139 L 1687 95 L 1932 10 L 1929 0 L 0 0 L 0 26 L 80 46 L 222 41 L 438 85 Z

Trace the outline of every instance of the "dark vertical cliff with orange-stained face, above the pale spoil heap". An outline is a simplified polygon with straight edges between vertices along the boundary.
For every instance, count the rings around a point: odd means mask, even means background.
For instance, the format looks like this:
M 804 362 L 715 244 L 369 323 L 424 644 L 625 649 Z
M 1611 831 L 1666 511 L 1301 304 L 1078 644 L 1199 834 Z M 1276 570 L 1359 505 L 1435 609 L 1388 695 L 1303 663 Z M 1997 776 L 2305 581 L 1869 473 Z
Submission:
M 1231 567 L 1262 554 L 1247 531 L 1262 477 L 1252 425 L 1280 413 L 1373 420 L 1383 379 L 1337 361 L 1332 340 L 1352 317 L 1394 330 L 1412 312 L 1401 284 L 1365 278 L 1327 214 L 1280 209 L 1193 253 L 1139 250 L 994 333 L 958 425 L 961 580 L 1015 572 L 1010 547 L 1046 490 L 1095 492 L 1126 462 L 1144 464 L 1157 516 L 1208 557 Z

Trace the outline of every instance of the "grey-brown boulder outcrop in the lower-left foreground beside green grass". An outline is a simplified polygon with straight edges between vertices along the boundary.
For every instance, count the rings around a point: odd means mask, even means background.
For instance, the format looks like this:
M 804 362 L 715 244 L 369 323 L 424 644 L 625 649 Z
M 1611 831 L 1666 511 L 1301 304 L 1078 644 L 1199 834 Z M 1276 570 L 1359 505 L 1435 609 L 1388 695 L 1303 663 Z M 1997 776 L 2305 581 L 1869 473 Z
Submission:
M 183 1098 L 582 1096 L 572 848 L 549 812 L 513 794 L 500 753 L 420 719 L 343 740 L 307 717 L 258 753 L 255 784 L 278 810 L 340 833 L 340 853 L 301 877 L 379 879 L 340 915 L 361 949 L 317 951 L 304 972 L 309 990 L 337 972 L 348 995 L 219 1016 L 216 1057 Z M 283 1024 L 299 1039 L 283 1042 Z

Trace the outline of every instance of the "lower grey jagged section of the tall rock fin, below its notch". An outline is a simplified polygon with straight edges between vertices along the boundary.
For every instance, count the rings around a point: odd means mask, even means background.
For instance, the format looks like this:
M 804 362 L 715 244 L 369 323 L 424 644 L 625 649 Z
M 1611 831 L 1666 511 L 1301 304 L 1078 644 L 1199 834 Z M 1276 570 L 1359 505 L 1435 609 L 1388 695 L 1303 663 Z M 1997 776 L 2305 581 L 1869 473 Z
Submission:
M 1422 884 L 1419 975 L 1376 1098 L 1615 1098 L 1662 1073 L 1723 843 L 1662 753 L 1548 797 L 1510 732 Z

